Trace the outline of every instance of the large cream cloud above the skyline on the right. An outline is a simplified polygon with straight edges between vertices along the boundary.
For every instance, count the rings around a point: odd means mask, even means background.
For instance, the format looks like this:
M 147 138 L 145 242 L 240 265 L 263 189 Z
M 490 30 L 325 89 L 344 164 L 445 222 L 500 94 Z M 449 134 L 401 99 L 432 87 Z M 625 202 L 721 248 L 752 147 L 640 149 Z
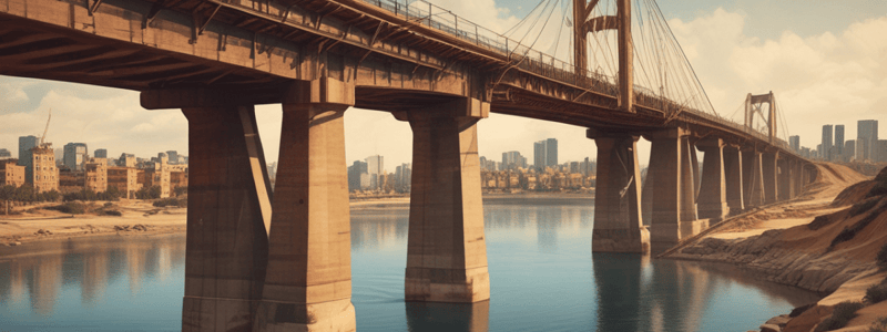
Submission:
M 766 40 L 746 35 L 746 22 L 724 9 L 669 21 L 722 115 L 733 113 L 747 93 L 773 91 L 789 133 L 814 148 L 824 124 L 844 124 L 845 137 L 853 139 L 856 121 L 887 122 L 887 17 L 843 31 L 808 37 L 783 31 Z M 741 118 L 741 113 L 734 117 Z

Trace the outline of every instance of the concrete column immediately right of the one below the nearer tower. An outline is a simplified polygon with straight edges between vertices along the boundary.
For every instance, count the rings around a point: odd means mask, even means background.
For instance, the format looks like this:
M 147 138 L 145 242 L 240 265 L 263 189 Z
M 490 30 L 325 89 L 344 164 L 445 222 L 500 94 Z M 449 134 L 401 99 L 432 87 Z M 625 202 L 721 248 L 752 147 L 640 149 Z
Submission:
M 652 185 L 653 220 L 650 240 L 675 243 L 707 227 L 707 220 L 696 220 L 695 180 L 691 153 L 695 148 L 682 128 L 665 129 L 651 135 L 652 148 L 648 181 Z

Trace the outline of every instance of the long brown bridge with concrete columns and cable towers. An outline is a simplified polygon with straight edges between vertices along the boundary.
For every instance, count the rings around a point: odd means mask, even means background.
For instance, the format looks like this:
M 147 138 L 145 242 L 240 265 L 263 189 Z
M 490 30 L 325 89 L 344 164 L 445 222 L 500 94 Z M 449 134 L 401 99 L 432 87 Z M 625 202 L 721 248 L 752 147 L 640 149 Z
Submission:
M 815 178 L 777 136 L 773 93 L 748 94 L 738 124 L 706 110 L 697 81 L 693 102 L 664 82 L 660 92 L 636 85 L 632 69 L 649 58 L 633 46 L 631 1 L 618 0 L 615 14 L 598 2 L 573 4 L 572 22 L 584 23 L 572 24 L 571 64 L 422 1 L 0 0 L 0 74 L 140 91 L 145 108 L 182 110 L 183 330 L 353 331 L 351 106 L 412 128 L 407 301 L 489 299 L 476 124 L 490 112 L 588 128 L 593 251 L 649 252 L 792 199 Z M 587 69 L 588 37 L 608 31 L 615 75 Z M 258 104 L 284 113 L 274 193 Z M 653 145 L 644 184 L 640 137 Z

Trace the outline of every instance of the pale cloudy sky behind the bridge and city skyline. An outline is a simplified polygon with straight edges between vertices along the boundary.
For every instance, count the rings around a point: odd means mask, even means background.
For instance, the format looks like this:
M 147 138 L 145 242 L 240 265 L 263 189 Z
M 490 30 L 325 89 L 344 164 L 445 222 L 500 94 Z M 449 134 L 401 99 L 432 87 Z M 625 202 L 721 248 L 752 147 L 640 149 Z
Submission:
M 500 32 L 539 4 L 538 0 L 431 2 Z M 747 93 L 773 91 L 788 133 L 801 135 L 801 144 L 813 148 L 824 124 L 845 125 L 846 139 L 856 137 L 858 120 L 878 120 L 887 126 L 887 1 L 660 0 L 657 4 L 720 114 L 735 114 Z M 47 141 L 54 147 L 82 142 L 90 152 L 106 148 L 109 156 L 150 157 L 165 151 L 187 155 L 187 121 L 182 113 L 143 110 L 137 92 L 10 76 L 0 76 L 0 148 L 17 157 L 18 137 L 42 135 L 50 108 Z M 275 162 L 281 106 L 257 106 L 256 114 L 266 159 Z M 411 160 L 409 125 L 388 113 L 351 108 L 345 115 L 345 131 L 349 164 L 381 155 L 385 169 L 394 172 Z M 559 141 L 561 163 L 593 159 L 597 154 L 583 127 L 508 115 L 491 114 L 480 121 L 478 135 L 480 156 L 495 160 L 508 151 L 532 160 L 532 143 L 549 137 Z M 641 164 L 648 163 L 649 147 L 641 139 Z

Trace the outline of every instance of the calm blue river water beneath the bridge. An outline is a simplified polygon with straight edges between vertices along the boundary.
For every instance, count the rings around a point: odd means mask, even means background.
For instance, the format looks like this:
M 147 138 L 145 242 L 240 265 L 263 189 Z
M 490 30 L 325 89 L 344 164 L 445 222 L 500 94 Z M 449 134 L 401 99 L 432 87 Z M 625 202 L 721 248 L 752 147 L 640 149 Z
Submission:
M 815 294 L 733 268 L 592 255 L 590 200 L 485 203 L 491 300 L 405 303 L 407 209 L 351 211 L 358 331 L 746 331 Z M 177 331 L 184 236 L 0 247 L 2 331 Z

